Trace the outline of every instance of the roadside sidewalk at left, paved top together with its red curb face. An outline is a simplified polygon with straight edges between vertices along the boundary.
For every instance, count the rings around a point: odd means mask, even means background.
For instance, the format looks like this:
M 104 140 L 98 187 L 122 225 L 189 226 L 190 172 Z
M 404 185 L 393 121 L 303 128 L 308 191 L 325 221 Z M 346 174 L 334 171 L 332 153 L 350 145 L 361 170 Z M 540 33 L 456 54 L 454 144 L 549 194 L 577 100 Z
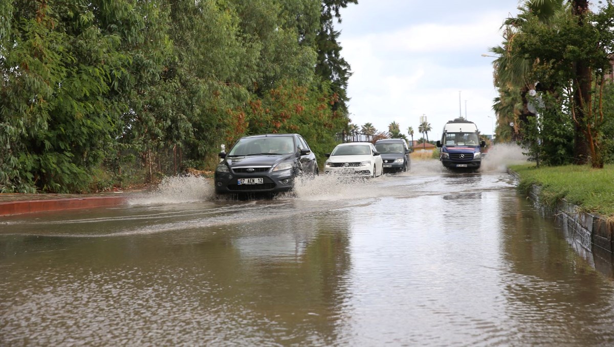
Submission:
M 131 192 L 95 194 L 0 194 L 0 217 L 31 212 L 61 211 L 126 203 Z

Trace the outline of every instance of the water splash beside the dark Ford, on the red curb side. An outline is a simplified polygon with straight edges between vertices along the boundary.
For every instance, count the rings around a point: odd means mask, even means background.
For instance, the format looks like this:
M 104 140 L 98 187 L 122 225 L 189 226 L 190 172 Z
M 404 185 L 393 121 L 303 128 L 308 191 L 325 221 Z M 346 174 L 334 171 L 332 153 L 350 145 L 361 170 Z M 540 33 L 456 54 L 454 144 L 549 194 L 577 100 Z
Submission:
M 135 196 L 131 205 L 178 204 L 212 200 L 215 196 L 213 182 L 202 176 L 182 175 L 164 177 L 152 192 Z

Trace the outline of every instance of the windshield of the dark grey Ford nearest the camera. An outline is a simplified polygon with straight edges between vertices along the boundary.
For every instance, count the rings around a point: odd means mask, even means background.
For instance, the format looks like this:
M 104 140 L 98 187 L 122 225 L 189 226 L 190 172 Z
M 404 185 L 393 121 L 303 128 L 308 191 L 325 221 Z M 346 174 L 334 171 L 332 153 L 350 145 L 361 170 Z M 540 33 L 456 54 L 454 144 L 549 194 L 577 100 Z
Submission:
M 292 136 L 242 138 L 228 152 L 228 156 L 292 154 L 295 148 Z

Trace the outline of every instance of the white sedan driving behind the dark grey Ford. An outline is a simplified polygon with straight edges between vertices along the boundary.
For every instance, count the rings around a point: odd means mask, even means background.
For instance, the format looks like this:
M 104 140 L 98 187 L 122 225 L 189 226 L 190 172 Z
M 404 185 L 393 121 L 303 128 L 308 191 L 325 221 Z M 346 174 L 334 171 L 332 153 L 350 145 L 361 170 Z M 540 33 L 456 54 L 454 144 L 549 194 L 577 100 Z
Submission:
M 324 164 L 324 173 L 343 176 L 376 177 L 383 173 L 383 160 L 373 144 L 350 142 L 338 144 Z

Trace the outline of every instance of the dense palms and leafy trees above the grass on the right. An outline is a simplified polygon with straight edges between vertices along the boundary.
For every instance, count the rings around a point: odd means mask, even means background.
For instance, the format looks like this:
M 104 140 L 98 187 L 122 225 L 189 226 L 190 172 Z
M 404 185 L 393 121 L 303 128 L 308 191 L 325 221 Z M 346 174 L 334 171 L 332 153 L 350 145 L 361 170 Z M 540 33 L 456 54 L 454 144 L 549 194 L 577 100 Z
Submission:
M 595 13 L 586 1 L 530 0 L 505 21 L 494 81 L 497 138 L 523 144 L 538 163 L 588 163 L 602 168 L 612 154 L 614 6 Z M 511 124 L 509 127 L 507 124 Z M 611 131 L 611 130 L 610 130 Z

